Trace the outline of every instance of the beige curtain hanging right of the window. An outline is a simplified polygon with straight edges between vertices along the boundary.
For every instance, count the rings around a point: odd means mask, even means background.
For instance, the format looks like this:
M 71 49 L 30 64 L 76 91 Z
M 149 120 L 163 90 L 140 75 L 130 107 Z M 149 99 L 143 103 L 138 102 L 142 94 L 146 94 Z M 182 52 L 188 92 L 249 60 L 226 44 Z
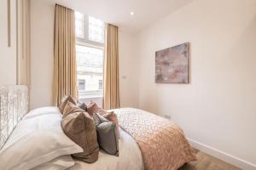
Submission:
M 103 108 L 119 108 L 119 37 L 118 27 L 106 25 Z

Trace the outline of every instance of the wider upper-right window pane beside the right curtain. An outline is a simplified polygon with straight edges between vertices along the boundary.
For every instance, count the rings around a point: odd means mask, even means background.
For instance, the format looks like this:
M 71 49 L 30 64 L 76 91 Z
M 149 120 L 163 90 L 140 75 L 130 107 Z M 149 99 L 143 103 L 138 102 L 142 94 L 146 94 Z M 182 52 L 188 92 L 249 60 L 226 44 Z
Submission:
M 89 16 L 89 40 L 94 42 L 104 42 L 104 22 Z

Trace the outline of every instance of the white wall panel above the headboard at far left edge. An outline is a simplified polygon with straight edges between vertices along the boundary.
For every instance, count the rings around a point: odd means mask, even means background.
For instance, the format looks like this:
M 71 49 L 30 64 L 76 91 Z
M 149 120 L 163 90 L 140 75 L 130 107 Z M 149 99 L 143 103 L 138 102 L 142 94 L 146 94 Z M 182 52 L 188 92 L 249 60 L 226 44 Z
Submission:
M 7 1 L 0 1 L 0 85 L 16 84 L 16 1 L 11 0 L 11 47 L 8 47 Z

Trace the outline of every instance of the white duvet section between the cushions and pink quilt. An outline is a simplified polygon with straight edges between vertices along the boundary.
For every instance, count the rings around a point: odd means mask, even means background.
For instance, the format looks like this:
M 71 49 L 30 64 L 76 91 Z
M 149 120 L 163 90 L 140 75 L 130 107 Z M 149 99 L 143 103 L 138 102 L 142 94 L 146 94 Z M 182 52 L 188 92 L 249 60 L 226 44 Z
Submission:
M 111 156 L 101 150 L 95 163 L 76 161 L 69 170 L 143 170 L 143 157 L 136 141 L 121 128 L 119 131 L 119 156 Z

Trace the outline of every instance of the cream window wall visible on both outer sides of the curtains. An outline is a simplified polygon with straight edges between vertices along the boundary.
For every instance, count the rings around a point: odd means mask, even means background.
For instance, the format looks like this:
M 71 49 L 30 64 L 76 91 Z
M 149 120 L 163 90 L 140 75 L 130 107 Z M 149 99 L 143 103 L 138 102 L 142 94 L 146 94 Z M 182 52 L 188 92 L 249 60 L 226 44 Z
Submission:
M 33 109 L 52 103 L 55 1 L 32 0 L 31 16 Z M 119 32 L 120 100 L 122 106 L 137 107 L 137 97 L 134 99 L 138 95 L 137 72 L 132 38 L 123 31 Z

